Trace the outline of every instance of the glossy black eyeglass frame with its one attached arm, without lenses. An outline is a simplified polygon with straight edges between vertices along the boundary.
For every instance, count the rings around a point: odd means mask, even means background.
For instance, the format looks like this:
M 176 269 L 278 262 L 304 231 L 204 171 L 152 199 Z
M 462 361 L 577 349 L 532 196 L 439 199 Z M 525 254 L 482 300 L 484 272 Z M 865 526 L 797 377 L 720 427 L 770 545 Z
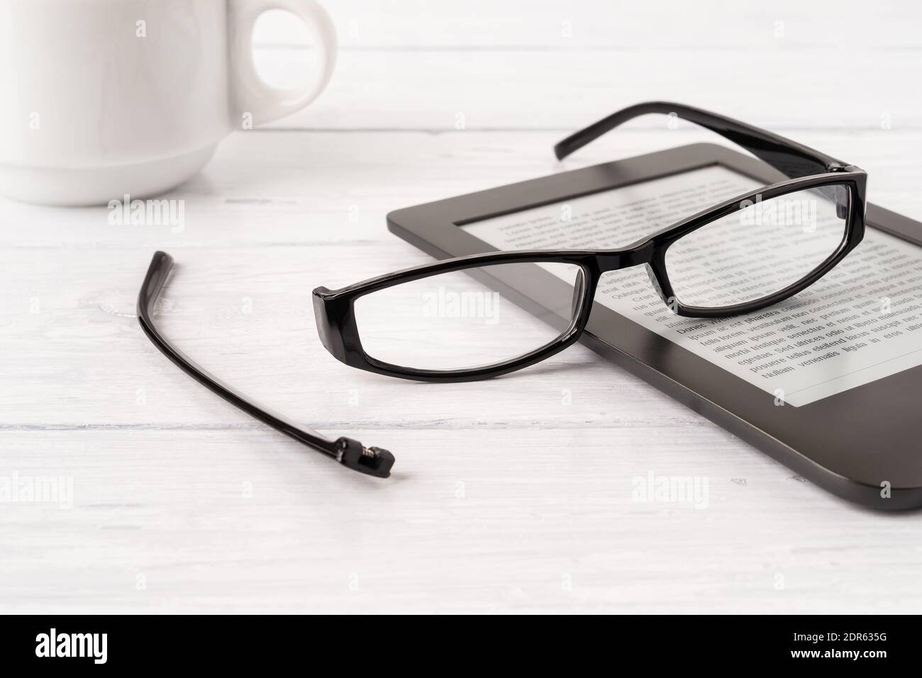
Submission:
M 330 351 L 342 363 L 380 375 L 438 382 L 490 378 L 514 372 L 545 360 L 579 339 L 592 311 L 592 301 L 595 297 L 599 278 L 608 271 L 644 265 L 650 274 L 650 280 L 653 282 L 656 292 L 669 309 L 677 315 L 723 317 L 758 311 L 797 294 L 798 291 L 802 291 L 820 280 L 845 255 L 851 252 L 864 237 L 865 195 L 868 178 L 866 172 L 758 127 L 746 125 L 701 109 L 662 101 L 637 104 L 618 113 L 613 113 L 595 125 L 590 125 L 571 137 L 567 137 L 554 148 L 554 152 L 558 158 L 563 158 L 617 125 L 646 113 L 675 114 L 677 117 L 702 125 L 723 137 L 727 137 L 727 139 L 739 144 L 744 149 L 750 150 L 756 157 L 790 178 L 725 200 L 713 208 L 691 215 L 685 220 L 656 232 L 649 238 L 621 249 L 492 252 L 483 255 L 446 259 L 420 267 L 407 268 L 396 273 L 365 280 L 340 290 L 334 291 L 325 287 L 318 287 L 313 291 L 314 317 L 317 323 L 317 331 L 326 350 Z M 841 199 L 839 192 L 831 190 L 835 186 L 845 187 L 846 201 Z M 845 232 L 841 243 L 820 266 L 786 288 L 749 303 L 739 303 L 720 308 L 701 308 L 680 303 L 673 291 L 666 268 L 666 252 L 669 245 L 675 243 L 682 236 L 703 227 L 705 224 L 726 217 L 738 211 L 745 204 L 751 204 L 751 201 L 755 201 L 757 196 L 762 200 L 768 200 L 806 189 L 818 189 L 829 196 L 833 196 L 833 199 L 837 201 L 836 207 L 840 216 L 845 219 Z M 573 322 L 562 331 L 556 340 L 538 350 L 524 353 L 509 361 L 464 370 L 414 369 L 408 366 L 384 363 L 376 360 L 363 350 L 361 333 L 356 323 L 354 311 L 354 303 L 361 296 L 394 285 L 451 271 L 496 264 L 529 262 L 562 262 L 579 266 L 583 270 L 585 282 L 582 286 L 582 296 L 578 300 L 578 312 Z M 478 275 L 483 278 L 485 274 L 482 269 L 478 270 Z M 499 281 L 488 281 L 488 284 L 493 287 L 503 287 Z

